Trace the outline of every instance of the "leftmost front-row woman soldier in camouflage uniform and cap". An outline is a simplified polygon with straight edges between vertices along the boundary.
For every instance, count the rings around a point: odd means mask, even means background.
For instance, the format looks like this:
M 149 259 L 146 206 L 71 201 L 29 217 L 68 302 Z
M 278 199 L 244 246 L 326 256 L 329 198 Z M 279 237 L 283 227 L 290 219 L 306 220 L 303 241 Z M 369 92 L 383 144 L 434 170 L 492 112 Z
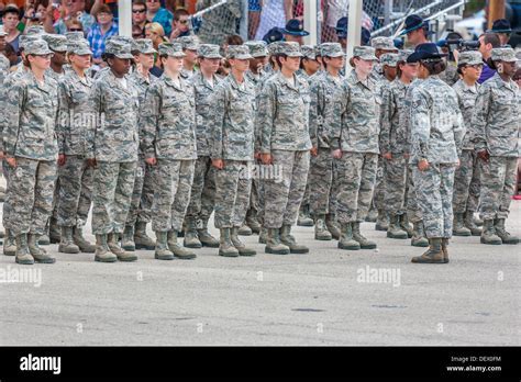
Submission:
M 45 72 L 53 52 L 43 40 L 27 42 L 24 59 L 30 70 L 10 88 L 5 100 L 5 161 L 12 168 L 7 228 L 16 238 L 15 261 L 52 263 L 55 258 L 38 246 L 51 217 L 58 144 L 57 82 Z

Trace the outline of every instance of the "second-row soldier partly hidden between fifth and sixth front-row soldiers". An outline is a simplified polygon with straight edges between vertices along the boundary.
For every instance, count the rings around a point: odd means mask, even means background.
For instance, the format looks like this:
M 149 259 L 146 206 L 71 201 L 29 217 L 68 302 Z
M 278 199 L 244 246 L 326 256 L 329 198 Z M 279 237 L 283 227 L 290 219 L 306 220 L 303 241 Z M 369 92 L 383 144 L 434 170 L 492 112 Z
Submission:
M 308 184 L 310 190 L 311 213 L 314 220 L 314 238 L 331 240 L 340 238 L 336 225 L 337 171 L 336 162 L 324 139 L 325 126 L 342 124 L 345 111 L 344 78 L 340 70 L 344 67 L 345 54 L 339 43 L 320 45 L 325 70 L 310 78 L 311 105 L 309 125 L 311 144 L 311 164 Z M 334 127 L 333 127 L 334 128 Z

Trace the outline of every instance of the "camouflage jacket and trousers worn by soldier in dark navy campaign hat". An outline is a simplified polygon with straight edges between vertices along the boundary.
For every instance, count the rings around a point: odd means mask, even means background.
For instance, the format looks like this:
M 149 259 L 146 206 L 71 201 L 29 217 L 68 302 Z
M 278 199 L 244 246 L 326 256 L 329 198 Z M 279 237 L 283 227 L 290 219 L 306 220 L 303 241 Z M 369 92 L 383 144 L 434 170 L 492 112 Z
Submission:
M 411 158 L 418 204 L 428 238 L 451 238 L 454 172 L 465 134 L 456 92 L 437 76 L 412 90 Z M 418 162 L 430 167 L 420 171 Z

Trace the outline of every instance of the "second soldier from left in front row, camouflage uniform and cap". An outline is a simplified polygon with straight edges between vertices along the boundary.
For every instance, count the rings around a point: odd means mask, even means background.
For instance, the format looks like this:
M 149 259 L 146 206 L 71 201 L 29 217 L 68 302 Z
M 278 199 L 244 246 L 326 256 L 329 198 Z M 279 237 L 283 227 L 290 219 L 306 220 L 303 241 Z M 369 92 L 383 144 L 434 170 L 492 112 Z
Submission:
M 137 164 L 137 88 L 128 79 L 131 44 L 111 38 L 103 54 L 109 70 L 92 85 L 96 120 L 87 136 L 87 160 L 95 166 L 92 233 L 96 261 L 135 261 L 137 256 L 118 244 L 123 233 Z

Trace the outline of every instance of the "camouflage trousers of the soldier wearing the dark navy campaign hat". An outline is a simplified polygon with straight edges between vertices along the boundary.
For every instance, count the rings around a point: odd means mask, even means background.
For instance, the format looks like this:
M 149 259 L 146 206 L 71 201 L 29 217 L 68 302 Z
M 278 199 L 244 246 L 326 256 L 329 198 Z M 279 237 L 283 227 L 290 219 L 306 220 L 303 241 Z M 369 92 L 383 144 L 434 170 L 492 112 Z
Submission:
M 452 164 L 431 164 L 424 171 L 412 167 L 418 205 L 422 213 L 425 236 L 452 237 L 454 173 Z

